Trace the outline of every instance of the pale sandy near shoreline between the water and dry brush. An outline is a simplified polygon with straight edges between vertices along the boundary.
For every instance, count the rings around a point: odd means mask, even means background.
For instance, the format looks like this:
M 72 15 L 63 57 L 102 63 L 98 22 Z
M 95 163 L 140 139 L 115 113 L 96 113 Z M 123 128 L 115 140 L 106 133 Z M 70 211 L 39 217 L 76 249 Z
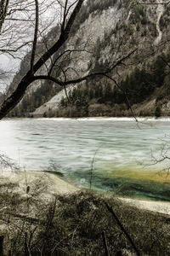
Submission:
M 42 193 L 42 200 L 50 200 L 50 198 L 52 198 L 55 194 L 70 195 L 83 189 L 78 188 L 76 185 L 69 183 L 65 179 L 50 172 L 3 171 L 1 173 L 0 183 L 14 183 L 18 185 L 17 192 L 23 196 L 26 196 L 26 189 L 28 186 L 31 189 L 31 193 L 33 193 L 34 189 L 37 189 L 38 187 Z M 101 191 L 94 192 L 107 196 L 105 193 L 101 193 Z M 119 196 L 115 197 L 129 206 L 137 207 L 139 209 L 151 212 L 170 215 L 170 202 L 167 201 L 150 201 Z

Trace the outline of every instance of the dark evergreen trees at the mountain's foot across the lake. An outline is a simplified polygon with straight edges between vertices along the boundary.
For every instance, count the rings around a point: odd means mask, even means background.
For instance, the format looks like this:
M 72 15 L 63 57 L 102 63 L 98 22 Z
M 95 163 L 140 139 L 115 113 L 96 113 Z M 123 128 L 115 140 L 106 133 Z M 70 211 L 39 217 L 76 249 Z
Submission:
M 119 88 L 101 77 L 98 79 L 89 79 L 86 84 L 75 88 L 69 93 L 69 100 L 63 98 L 60 107 L 64 108 L 64 115 L 69 116 L 88 116 L 93 115 L 91 112 L 92 105 L 98 108 L 100 115 L 117 115 L 115 109 L 120 108 L 120 115 L 124 110 L 129 109 L 129 104 L 138 104 L 150 97 L 156 88 L 161 88 L 167 84 L 168 70 L 167 61 L 170 55 L 159 55 L 156 61 L 147 66 L 135 67 L 126 79 L 119 83 Z M 127 102 L 128 99 L 128 102 Z M 156 101 L 161 99 L 157 96 Z M 103 107 L 99 108 L 99 105 Z M 107 106 L 107 108 L 105 108 Z M 114 111 L 111 111 L 114 109 Z M 156 109 L 157 111 L 158 109 Z M 98 114 L 99 111 L 96 110 Z M 94 111 L 94 113 L 95 113 Z M 51 115 L 62 115 L 62 110 L 56 111 Z M 156 113 L 157 114 L 157 113 Z M 48 115 L 48 114 L 47 114 Z M 119 114 L 118 114 L 119 115 Z

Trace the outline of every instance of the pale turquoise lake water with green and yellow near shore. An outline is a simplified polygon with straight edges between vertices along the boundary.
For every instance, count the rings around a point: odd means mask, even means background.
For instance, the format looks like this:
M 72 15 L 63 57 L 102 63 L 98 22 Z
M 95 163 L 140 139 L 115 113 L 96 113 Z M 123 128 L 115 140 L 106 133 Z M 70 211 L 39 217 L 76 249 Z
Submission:
M 0 154 L 79 186 L 91 180 L 116 195 L 170 201 L 170 177 L 161 172 L 169 160 L 152 165 L 151 157 L 168 155 L 169 135 L 168 119 L 8 119 L 0 122 Z

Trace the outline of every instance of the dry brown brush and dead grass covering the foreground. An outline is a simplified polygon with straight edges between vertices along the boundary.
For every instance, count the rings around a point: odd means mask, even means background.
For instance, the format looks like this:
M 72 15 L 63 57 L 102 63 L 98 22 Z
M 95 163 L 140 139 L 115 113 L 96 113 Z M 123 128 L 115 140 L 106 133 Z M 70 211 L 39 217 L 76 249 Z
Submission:
M 170 254 L 168 215 L 88 190 L 48 200 L 42 200 L 41 190 L 32 194 L 27 188 L 25 195 L 14 190 L 11 183 L 0 188 L 2 255 Z

